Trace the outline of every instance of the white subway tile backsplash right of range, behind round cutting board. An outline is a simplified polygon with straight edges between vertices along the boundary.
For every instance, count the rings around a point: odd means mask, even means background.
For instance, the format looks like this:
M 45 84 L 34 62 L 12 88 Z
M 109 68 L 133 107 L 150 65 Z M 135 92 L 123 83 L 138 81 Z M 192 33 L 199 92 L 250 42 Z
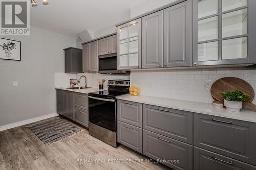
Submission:
M 256 90 L 254 68 L 212 68 L 131 72 L 131 85 L 140 87 L 140 95 L 211 103 L 210 91 L 204 90 L 204 81 L 223 77 L 244 79 Z M 256 99 L 253 101 L 256 104 Z

